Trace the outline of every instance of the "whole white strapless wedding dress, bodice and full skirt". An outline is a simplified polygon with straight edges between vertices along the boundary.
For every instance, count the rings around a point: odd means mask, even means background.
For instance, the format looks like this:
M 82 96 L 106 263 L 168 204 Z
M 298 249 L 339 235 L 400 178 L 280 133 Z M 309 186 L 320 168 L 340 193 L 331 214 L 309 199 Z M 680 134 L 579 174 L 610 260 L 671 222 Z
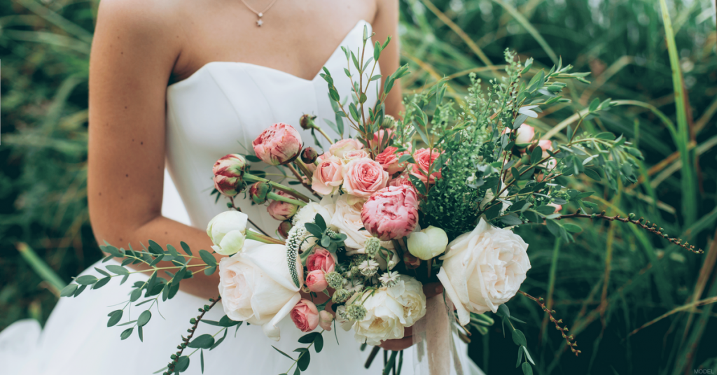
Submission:
M 341 45 L 353 51 L 361 47 L 364 25 L 369 27 L 370 34 L 371 26 L 361 21 Z M 371 42 L 367 48 L 371 48 Z M 326 67 L 332 72 L 342 98 L 349 95 L 351 84 L 343 72 L 346 58 L 340 48 L 337 47 L 328 58 Z M 371 87 L 368 103 L 375 100 L 376 87 Z M 305 145 L 313 146 L 310 133 L 301 130 L 298 124 L 304 113 L 317 115 L 322 124 L 324 118 L 335 118 L 326 81 L 318 75 L 313 80 L 305 80 L 242 62 L 211 62 L 186 80 L 170 85 L 167 88 L 166 164 L 171 179 L 165 178 L 164 216 L 199 229 L 206 228 L 209 219 L 227 210 L 223 198 L 215 203 L 215 197 L 210 195 L 214 162 L 227 153 L 250 153 L 252 140 L 268 125 L 277 122 L 293 125 L 303 132 Z M 242 209 L 267 232 L 274 232 L 279 224 L 268 216 L 265 207 L 243 204 Z M 92 267 L 86 272 L 97 275 Z M 169 356 L 176 352 L 181 335 L 187 334 L 186 328 L 191 326 L 189 319 L 195 317 L 197 308 L 208 301 L 180 291 L 174 299 L 160 303 L 159 310 L 164 319 L 156 308 L 152 309 L 151 321 L 144 327 L 143 342 L 136 332 L 120 341 L 120 332 L 126 327 L 108 328 L 108 313 L 120 308 L 110 306 L 126 300 L 133 281 L 144 280 L 146 276 L 133 277 L 121 286 L 118 280 L 113 280 L 102 289 L 86 290 L 77 298 L 61 298 L 42 333 L 35 321 L 17 322 L 0 333 L 0 373 L 127 375 L 152 374 L 162 369 L 170 361 Z M 125 310 L 123 322 L 128 320 L 128 312 L 136 319 L 143 309 L 144 306 Z M 222 306 L 217 305 L 206 318 L 219 321 L 223 315 Z M 305 344 L 298 343 L 303 333 L 289 318 L 280 323 L 280 330 L 281 340 L 275 342 L 264 336 L 260 326 L 244 325 L 236 337 L 231 328 L 221 345 L 212 351 L 204 351 L 204 373 L 285 373 L 292 361 L 271 346 L 295 355 L 293 350 L 305 347 Z M 195 337 L 217 331 L 218 327 L 200 324 Z M 361 351 L 353 332 L 338 328 L 336 337 L 334 335 L 333 331 L 324 334 L 325 346 L 321 353 L 311 350 L 307 374 L 381 374 L 383 358 L 380 354 L 366 370 L 364 362 L 370 347 Z M 482 374 L 468 358 L 465 343 L 456 340 L 456 345 L 464 373 Z M 184 353 L 191 353 L 191 350 Z M 413 348 L 404 351 L 402 374 L 414 374 L 413 357 Z M 199 353 L 190 359 L 186 374 L 201 374 Z M 293 369 L 289 374 L 293 374 Z

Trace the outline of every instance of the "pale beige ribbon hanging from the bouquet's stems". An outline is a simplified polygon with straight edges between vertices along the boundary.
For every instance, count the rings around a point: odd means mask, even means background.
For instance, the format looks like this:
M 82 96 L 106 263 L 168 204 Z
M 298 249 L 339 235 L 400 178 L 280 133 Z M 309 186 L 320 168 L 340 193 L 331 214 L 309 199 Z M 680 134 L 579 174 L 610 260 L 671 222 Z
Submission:
M 426 315 L 413 326 L 414 375 L 463 375 L 455 347 L 453 303 L 447 295 L 426 300 Z

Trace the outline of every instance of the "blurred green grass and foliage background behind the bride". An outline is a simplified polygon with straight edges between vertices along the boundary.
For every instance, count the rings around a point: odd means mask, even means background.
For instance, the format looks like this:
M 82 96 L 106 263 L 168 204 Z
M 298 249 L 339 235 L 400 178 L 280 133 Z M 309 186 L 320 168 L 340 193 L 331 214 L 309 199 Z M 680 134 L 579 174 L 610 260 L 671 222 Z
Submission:
M 97 6 L 0 0 L 0 330 L 22 318 L 44 323 L 58 290 L 101 256 L 85 173 Z M 535 59 L 528 79 L 559 59 L 590 72 L 589 84 L 569 82 L 571 103 L 530 124 L 562 129 L 592 98 L 619 100 L 586 129 L 637 144 L 639 183 L 619 194 L 600 181 L 569 183 L 597 191 L 592 201 L 609 214 L 634 212 L 705 250 L 695 255 L 630 224 L 582 222 L 569 244 L 523 229 L 533 268 L 522 289 L 545 298 L 582 352 L 566 351 L 541 308 L 518 295 L 508 307 L 526 322 L 516 327 L 537 374 L 717 374 L 717 12 L 713 0 L 665 6 L 666 14 L 656 0 L 401 1 L 402 58 L 412 70 L 405 92 L 449 77 L 448 95 L 461 100 L 468 74 L 487 82 L 506 48 Z M 488 374 L 522 373 L 499 323 L 471 340 Z

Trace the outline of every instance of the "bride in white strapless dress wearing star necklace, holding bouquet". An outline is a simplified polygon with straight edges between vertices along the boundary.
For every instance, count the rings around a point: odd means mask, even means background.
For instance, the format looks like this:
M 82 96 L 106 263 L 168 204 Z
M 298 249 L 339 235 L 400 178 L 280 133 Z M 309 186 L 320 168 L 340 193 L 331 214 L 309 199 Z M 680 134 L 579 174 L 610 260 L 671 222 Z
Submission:
M 179 248 L 183 240 L 192 249 L 208 249 L 212 243 L 204 228 L 227 209 L 226 201 L 215 203 L 210 195 L 214 161 L 247 153 L 245 147 L 272 123 L 299 128 L 304 113 L 333 120 L 318 72 L 325 66 L 342 98 L 348 95 L 346 57 L 339 47 L 362 47 L 364 27 L 369 36 L 375 33 L 374 41 L 394 36 L 379 60 L 384 77 L 394 72 L 398 17 L 398 0 L 101 1 L 90 58 L 87 184 L 98 242 L 141 247 L 153 239 Z M 371 41 L 366 48 L 372 52 Z M 369 90 L 369 103 L 376 101 L 379 87 Z M 399 87 L 394 88 L 386 113 L 399 115 L 401 101 Z M 277 222 L 263 207 L 242 202 L 258 227 L 275 232 Z M 14 351 L 10 374 L 151 374 L 166 366 L 196 309 L 217 296 L 218 273 L 199 272 L 185 280 L 174 299 L 160 304 L 164 321 L 156 313 L 144 327 L 143 342 L 136 334 L 120 340 L 124 328 L 107 327 L 107 314 L 118 308 L 110 306 L 123 303 L 130 285 L 146 277 L 134 276 L 125 285 L 113 281 L 101 290 L 62 298 L 37 344 L 29 338 L 32 332 L 37 337 L 37 327 L 8 328 L 5 342 L 21 342 L 8 339 L 14 335 L 25 343 L 0 348 L 5 356 Z M 125 314 L 136 318 L 138 312 Z M 217 305 L 206 318 L 218 321 L 222 315 Z M 201 324 L 196 335 L 215 333 L 210 328 L 216 327 Z M 280 328 L 282 339 L 275 343 L 260 327 L 242 326 L 235 338 L 230 335 L 204 353 L 204 371 L 284 373 L 292 361 L 271 345 L 293 353 L 302 333 L 288 319 Z M 361 351 L 350 332 L 338 329 L 336 339 L 331 336 L 326 334 L 326 346 L 313 356 L 308 373 L 380 373 L 380 359 L 364 369 L 369 351 Z M 465 344 L 456 345 L 464 373 L 480 374 Z M 413 374 L 412 338 L 381 346 L 407 349 L 402 374 Z M 191 357 L 187 374 L 200 373 L 198 357 Z

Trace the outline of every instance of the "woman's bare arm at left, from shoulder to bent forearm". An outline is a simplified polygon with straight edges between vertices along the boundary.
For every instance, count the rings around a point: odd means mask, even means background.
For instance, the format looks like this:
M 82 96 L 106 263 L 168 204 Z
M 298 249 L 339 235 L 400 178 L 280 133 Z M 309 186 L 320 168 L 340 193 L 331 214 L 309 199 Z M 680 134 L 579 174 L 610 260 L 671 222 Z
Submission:
M 170 1 L 103 0 L 90 55 L 87 201 L 95 237 L 118 247 L 209 249 L 206 233 L 161 216 L 165 95 L 184 35 Z M 167 264 L 170 265 L 170 264 Z M 199 272 L 182 290 L 217 295 L 219 276 Z

